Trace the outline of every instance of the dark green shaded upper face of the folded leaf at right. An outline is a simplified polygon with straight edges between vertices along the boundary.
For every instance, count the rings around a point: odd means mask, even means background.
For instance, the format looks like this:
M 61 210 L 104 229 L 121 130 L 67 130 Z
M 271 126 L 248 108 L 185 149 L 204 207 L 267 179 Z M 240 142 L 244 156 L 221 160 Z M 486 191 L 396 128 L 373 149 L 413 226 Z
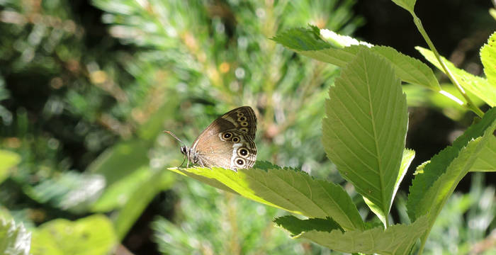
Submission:
M 471 125 L 470 128 L 466 130 L 460 137 L 458 137 L 452 146 L 446 147 L 439 154 L 434 155 L 432 159 L 430 159 L 427 164 L 422 164 L 422 167 L 417 169 L 417 175 L 415 179 L 412 181 L 412 186 L 410 186 L 410 193 L 408 195 L 407 200 L 407 209 L 408 216 L 411 220 L 415 220 L 421 215 L 424 215 L 428 212 L 428 208 L 422 209 L 420 206 L 421 203 L 425 203 L 428 200 L 433 200 L 435 196 L 432 193 L 427 193 L 426 191 L 429 188 L 434 186 L 434 182 L 439 179 L 439 176 L 443 175 L 446 171 L 448 171 L 449 165 L 452 164 L 453 160 L 458 157 L 458 154 L 461 152 L 463 147 L 468 145 L 470 140 L 473 140 L 477 137 L 480 137 L 485 134 L 485 132 L 493 132 L 495 130 L 496 125 L 496 108 L 490 109 L 484 114 L 484 118 L 480 120 L 480 122 Z M 492 138 L 487 136 L 485 138 L 485 143 L 487 143 L 487 147 L 493 146 Z M 489 151 L 491 151 L 489 149 Z M 484 155 L 487 152 L 483 150 L 479 152 L 481 155 Z M 477 159 L 485 160 L 485 158 L 480 157 Z M 491 159 L 492 160 L 492 159 Z M 478 166 L 478 164 L 474 164 L 474 166 Z M 422 170 L 422 171 L 419 171 Z M 458 183 L 458 182 L 456 182 Z M 445 185 L 450 185 L 451 183 L 445 183 Z

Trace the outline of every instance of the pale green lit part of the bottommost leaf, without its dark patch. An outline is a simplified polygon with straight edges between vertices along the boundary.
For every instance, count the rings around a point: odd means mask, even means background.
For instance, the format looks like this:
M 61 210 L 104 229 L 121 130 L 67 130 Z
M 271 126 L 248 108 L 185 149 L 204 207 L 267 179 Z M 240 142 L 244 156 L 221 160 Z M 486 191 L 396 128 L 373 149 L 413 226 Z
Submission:
M 374 227 L 365 231 L 353 230 L 341 232 L 322 232 L 310 230 L 297 237 L 326 246 L 329 249 L 346 253 L 363 254 L 410 254 L 413 244 L 427 229 L 427 218 L 421 217 L 410 225 L 392 225 L 388 229 Z

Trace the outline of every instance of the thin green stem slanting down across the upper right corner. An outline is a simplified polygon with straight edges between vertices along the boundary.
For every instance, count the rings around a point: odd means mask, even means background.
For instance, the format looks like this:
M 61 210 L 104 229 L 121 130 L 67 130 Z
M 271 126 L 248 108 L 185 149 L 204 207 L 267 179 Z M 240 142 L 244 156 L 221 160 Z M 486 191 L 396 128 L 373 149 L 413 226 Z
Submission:
M 432 43 L 431 39 L 429 38 L 429 35 L 424 30 L 424 27 L 422 26 L 422 22 L 420 19 L 415 15 L 415 13 L 412 11 L 410 12 L 413 16 L 413 22 L 415 23 L 415 26 L 417 26 L 417 29 L 419 30 L 420 34 L 422 34 L 422 37 L 424 38 L 425 42 L 427 42 L 427 45 L 429 45 L 429 48 L 432 50 L 434 53 L 434 56 L 436 56 L 437 61 L 439 64 L 441 64 L 441 67 L 444 70 L 444 73 L 448 76 L 450 79 L 451 83 L 453 83 L 456 86 L 456 89 L 460 91 L 460 94 L 465 98 L 467 101 L 466 106 L 469 108 L 471 111 L 473 111 L 475 114 L 477 114 L 480 118 L 483 118 L 484 112 L 481 111 L 475 104 L 472 102 L 470 97 L 466 94 L 465 90 L 463 87 L 458 83 L 456 78 L 453 76 L 451 71 L 446 67 L 446 64 L 444 63 L 443 60 L 441 60 L 441 56 L 439 55 L 439 52 L 437 52 L 436 47 L 434 47 L 434 44 Z

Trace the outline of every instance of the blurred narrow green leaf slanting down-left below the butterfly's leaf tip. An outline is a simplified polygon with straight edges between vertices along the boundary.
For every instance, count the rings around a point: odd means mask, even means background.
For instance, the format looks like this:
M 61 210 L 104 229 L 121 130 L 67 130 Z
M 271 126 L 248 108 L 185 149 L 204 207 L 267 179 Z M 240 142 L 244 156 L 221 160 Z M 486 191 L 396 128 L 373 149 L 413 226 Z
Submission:
M 127 203 L 119 210 L 118 216 L 113 220 L 115 232 L 120 240 L 125 237 L 125 234 L 128 234 L 129 229 L 133 227 L 137 218 L 142 215 L 157 193 L 170 188 L 175 181 L 174 176 L 169 171 L 162 169 L 147 169 L 147 171 L 151 172 L 147 180 L 134 190 Z

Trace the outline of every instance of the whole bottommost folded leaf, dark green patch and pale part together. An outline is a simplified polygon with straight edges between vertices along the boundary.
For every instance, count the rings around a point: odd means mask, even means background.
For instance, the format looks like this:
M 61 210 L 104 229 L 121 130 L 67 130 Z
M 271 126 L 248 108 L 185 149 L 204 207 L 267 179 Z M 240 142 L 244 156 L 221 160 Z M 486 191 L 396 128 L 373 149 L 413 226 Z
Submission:
M 342 232 L 332 222 L 324 219 L 299 220 L 284 217 L 276 223 L 298 238 L 306 238 L 329 249 L 346 253 L 363 254 L 410 254 L 413 244 L 428 227 L 426 217 L 421 217 L 410 225 L 382 226 Z

